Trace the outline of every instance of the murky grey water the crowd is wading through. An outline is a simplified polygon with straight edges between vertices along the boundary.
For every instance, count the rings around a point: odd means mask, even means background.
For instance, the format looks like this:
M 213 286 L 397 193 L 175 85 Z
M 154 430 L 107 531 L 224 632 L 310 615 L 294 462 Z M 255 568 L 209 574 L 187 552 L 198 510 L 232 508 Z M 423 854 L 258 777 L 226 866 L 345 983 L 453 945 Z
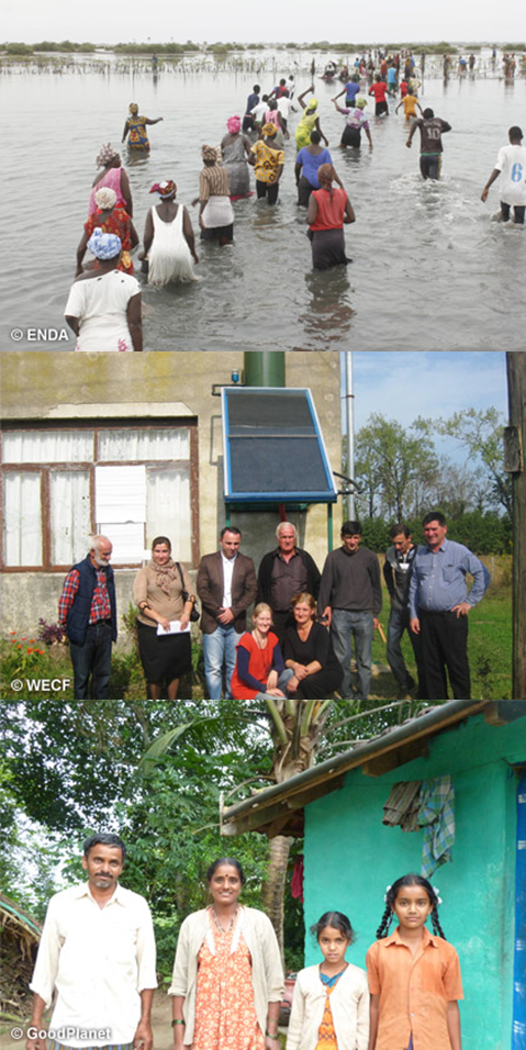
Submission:
M 126 161 L 142 236 L 157 200 L 148 196 L 153 182 L 174 178 L 179 201 L 189 205 L 198 194 L 201 145 L 219 144 L 226 118 L 244 112 L 256 80 L 266 91 L 289 72 L 161 71 L 154 80 L 143 64 L 135 74 L 1 75 L 10 144 L 0 204 L 9 246 L 0 279 L 1 349 L 74 349 L 72 334 L 69 342 L 43 343 L 34 329 L 64 326 L 94 158 L 102 143 L 119 145 L 130 101 L 152 119 L 164 118 L 150 129 L 150 156 Z M 299 90 L 309 79 L 298 76 Z M 422 180 L 419 136 L 405 147 L 402 112 L 376 120 L 372 99 L 366 111 L 372 152 L 366 143 L 342 155 L 344 118 L 331 103 L 335 93 L 334 85 L 316 81 L 322 129 L 357 215 L 346 231 L 352 264 L 325 273 L 311 268 L 305 213 L 295 203 L 299 113 L 291 114 L 278 205 L 255 197 L 236 202 L 235 246 L 198 247 L 199 283 L 144 288 L 145 349 L 524 349 L 526 228 L 491 221 L 499 182 L 486 204 L 480 193 L 508 126 L 524 127 L 526 79 L 444 85 L 426 77 L 423 108 L 452 126 L 438 183 Z M 190 213 L 197 231 L 197 209 Z M 19 342 L 13 328 L 23 333 Z

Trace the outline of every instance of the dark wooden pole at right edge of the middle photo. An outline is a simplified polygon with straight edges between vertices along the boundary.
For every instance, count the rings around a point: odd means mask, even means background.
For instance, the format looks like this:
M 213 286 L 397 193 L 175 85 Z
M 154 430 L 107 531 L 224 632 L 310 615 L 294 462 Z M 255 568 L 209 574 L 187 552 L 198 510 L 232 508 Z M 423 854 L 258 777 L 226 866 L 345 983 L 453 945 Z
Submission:
M 526 700 L 526 353 L 506 354 L 510 426 L 504 469 L 513 483 L 513 700 Z

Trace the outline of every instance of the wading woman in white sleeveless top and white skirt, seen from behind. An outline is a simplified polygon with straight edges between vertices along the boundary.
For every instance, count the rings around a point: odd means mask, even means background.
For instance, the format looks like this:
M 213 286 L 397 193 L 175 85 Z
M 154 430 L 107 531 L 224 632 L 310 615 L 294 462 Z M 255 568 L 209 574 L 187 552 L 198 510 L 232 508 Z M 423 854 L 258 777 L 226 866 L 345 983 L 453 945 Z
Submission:
M 150 208 L 144 226 L 141 258 L 148 259 L 148 284 L 199 280 L 192 265 L 192 259 L 199 262 L 192 223 L 184 205 L 176 202 L 176 183 L 156 182 L 149 192 L 158 193 L 160 203 Z

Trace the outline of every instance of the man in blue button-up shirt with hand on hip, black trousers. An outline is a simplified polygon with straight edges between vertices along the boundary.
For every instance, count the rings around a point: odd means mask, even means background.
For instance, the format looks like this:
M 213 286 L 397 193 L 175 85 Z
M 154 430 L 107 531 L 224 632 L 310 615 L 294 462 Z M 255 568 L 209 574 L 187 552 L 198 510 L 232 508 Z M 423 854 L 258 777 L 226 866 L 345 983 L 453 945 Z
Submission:
M 413 560 L 409 604 L 411 629 L 422 636 L 427 696 L 447 700 L 447 669 L 455 699 L 470 700 L 468 613 L 483 597 L 490 573 L 467 547 L 446 539 L 444 514 L 432 511 L 423 526 L 426 546 Z

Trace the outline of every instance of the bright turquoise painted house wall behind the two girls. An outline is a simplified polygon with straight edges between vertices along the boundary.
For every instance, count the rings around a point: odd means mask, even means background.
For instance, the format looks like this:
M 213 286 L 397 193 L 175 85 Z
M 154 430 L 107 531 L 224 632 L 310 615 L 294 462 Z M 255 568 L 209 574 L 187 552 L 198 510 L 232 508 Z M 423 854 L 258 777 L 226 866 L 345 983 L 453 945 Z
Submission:
M 465 1047 L 508 1050 L 512 1029 L 516 788 L 512 766 L 526 761 L 526 717 L 507 726 L 482 715 L 435 737 L 425 759 L 383 777 L 354 770 L 345 786 L 305 814 L 305 927 L 323 912 L 345 912 L 357 931 L 347 953 L 365 965 L 384 908 L 385 887 L 419 871 L 423 831 L 382 825 L 391 785 L 451 773 L 456 790 L 452 862 L 432 879 L 440 921 L 460 957 Z M 310 935 L 305 964 L 320 953 Z

